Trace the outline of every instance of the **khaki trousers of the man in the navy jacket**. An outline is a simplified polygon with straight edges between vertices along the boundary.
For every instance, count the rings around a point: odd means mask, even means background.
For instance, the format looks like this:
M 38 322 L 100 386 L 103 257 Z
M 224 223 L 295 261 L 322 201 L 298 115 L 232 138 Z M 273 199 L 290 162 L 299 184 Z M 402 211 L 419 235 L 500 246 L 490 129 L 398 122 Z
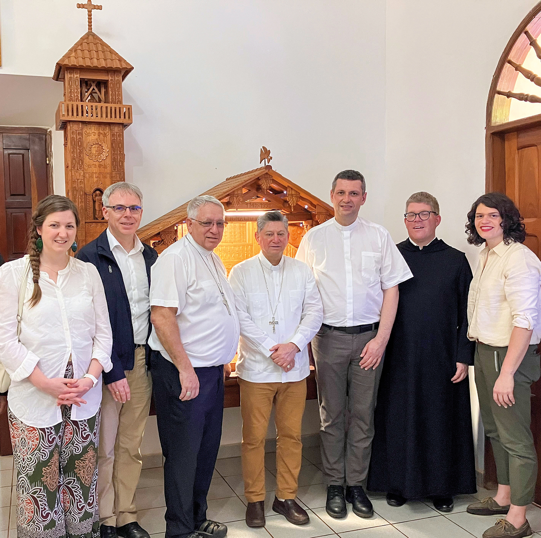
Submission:
M 135 488 L 143 464 L 140 448 L 152 394 L 144 346 L 135 349 L 134 369 L 124 373 L 131 393 L 131 399 L 126 403 L 115 402 L 107 386 L 103 385 L 98 448 L 100 524 L 112 527 L 137 521 Z

